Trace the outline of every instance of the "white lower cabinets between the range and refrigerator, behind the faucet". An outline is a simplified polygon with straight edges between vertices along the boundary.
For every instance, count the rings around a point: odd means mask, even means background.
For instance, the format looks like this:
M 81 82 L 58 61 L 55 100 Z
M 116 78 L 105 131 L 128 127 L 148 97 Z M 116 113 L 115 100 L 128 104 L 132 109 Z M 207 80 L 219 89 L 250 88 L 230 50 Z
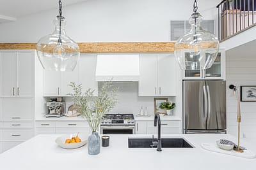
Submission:
M 136 134 L 157 134 L 154 121 L 136 121 Z M 161 134 L 180 134 L 181 125 L 179 120 L 161 121 Z

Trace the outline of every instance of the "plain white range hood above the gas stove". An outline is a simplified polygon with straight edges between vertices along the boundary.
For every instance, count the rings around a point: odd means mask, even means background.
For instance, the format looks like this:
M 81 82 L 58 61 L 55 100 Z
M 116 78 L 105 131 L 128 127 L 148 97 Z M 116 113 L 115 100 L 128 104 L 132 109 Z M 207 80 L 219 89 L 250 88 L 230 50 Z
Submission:
M 97 55 L 96 81 L 138 81 L 138 54 Z

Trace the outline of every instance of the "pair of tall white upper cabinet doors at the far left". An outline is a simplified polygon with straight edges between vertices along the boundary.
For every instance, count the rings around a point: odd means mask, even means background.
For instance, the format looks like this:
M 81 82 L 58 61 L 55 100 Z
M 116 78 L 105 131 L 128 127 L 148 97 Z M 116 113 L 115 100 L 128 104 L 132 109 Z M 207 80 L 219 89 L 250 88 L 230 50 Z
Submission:
M 1 52 L 1 96 L 33 97 L 35 56 L 28 51 Z

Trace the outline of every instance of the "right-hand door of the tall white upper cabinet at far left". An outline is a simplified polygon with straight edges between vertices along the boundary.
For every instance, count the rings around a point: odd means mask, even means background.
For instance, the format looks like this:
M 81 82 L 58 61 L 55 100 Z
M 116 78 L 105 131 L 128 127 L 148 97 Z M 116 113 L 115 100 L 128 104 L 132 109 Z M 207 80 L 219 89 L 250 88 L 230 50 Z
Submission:
M 34 59 L 35 52 L 17 53 L 17 96 L 34 96 Z

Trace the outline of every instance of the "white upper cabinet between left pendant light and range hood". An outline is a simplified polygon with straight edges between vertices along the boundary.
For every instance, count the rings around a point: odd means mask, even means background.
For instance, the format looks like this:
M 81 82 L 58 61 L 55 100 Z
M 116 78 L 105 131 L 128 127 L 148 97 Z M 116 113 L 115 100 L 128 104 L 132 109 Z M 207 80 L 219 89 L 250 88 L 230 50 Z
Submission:
M 76 85 L 82 83 L 83 91 L 95 89 L 97 95 L 97 81 L 95 81 L 95 68 L 97 55 L 83 54 L 74 71 L 46 71 L 44 70 L 43 93 L 44 96 L 68 96 L 72 93 L 70 82 Z

